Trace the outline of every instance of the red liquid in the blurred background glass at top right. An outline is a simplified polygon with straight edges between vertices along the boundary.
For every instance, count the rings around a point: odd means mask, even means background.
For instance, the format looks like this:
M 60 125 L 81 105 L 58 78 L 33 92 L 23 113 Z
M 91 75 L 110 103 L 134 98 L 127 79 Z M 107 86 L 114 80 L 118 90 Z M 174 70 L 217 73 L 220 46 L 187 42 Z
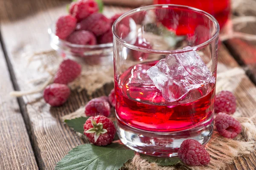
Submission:
M 220 28 L 227 23 L 230 14 L 230 0 L 154 0 L 154 4 L 177 4 L 201 9 L 215 17 Z M 162 22 L 166 26 L 165 21 Z

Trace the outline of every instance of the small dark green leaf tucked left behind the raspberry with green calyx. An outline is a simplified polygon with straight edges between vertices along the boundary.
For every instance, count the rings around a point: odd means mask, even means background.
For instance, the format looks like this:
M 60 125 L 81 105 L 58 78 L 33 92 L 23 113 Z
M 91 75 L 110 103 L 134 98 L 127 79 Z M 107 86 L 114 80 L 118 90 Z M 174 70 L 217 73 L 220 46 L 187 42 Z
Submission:
M 76 132 L 84 134 L 84 123 L 88 117 L 79 117 L 75 119 L 66 119 L 64 122 L 67 123 L 67 125 L 75 130 Z

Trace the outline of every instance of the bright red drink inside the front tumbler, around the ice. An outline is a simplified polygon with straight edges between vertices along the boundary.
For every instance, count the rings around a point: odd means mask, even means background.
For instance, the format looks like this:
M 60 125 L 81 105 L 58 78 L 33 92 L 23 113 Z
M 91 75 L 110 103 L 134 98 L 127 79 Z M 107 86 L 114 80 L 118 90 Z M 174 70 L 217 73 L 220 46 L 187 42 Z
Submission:
M 207 121 L 214 109 L 215 84 L 204 84 L 202 88 L 186 94 L 183 100 L 167 102 L 155 85 L 148 82 L 149 77 L 145 73 L 156 62 L 132 66 L 119 77 L 119 82 L 115 80 L 116 114 L 119 121 L 155 132 L 187 130 Z M 135 71 L 140 70 L 140 66 L 146 68 L 140 74 L 143 82 L 130 83 L 131 74 L 135 77 Z

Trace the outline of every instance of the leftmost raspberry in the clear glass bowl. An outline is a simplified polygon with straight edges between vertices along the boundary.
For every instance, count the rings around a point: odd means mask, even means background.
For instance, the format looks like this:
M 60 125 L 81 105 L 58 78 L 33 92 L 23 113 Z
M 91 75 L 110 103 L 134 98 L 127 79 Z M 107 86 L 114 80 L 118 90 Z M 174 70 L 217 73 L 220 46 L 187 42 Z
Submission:
M 76 29 L 76 18 L 65 15 L 58 18 L 56 22 L 56 35 L 60 39 L 66 39 Z

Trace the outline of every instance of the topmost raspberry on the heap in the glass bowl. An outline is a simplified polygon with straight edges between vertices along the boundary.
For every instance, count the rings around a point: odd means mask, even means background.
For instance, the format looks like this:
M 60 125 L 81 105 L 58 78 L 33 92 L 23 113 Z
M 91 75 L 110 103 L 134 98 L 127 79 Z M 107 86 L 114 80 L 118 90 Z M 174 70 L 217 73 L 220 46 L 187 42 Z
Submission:
M 79 0 L 70 5 L 70 14 L 81 21 L 88 17 L 90 14 L 99 11 L 98 4 L 94 0 Z

